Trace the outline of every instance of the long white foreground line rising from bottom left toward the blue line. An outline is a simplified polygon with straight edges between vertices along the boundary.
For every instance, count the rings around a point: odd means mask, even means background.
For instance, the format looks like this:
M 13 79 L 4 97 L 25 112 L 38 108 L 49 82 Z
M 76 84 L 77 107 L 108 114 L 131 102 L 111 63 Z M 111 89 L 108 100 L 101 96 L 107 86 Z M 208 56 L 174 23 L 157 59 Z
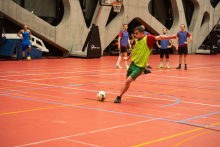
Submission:
M 86 135 L 86 134 L 92 134 L 92 133 L 96 133 L 96 132 L 102 132 L 102 131 L 112 130 L 112 129 L 116 129 L 116 128 L 122 128 L 122 127 L 126 127 L 126 126 L 131 126 L 131 125 L 136 125 L 136 124 L 140 124 L 140 123 L 145 123 L 145 122 L 152 121 L 152 120 L 155 120 L 155 119 L 139 121 L 139 122 L 136 122 L 136 123 L 130 123 L 130 124 L 125 124 L 125 125 L 120 125 L 120 126 L 115 126 L 115 127 L 110 127 L 110 128 L 90 131 L 90 132 L 86 132 L 86 133 L 70 135 L 70 136 L 53 138 L 53 139 L 48 139 L 48 140 L 43 140 L 43 141 L 38 141 L 38 142 L 33 142 L 33 143 L 28 143 L 28 144 L 23 144 L 23 145 L 18 145 L 18 146 L 15 146 L 15 147 L 23 147 L 23 146 L 36 145 L 36 144 L 41 144 L 41 143 L 44 143 L 44 142 L 55 141 L 55 140 L 59 140 L 59 139 L 66 139 L 66 138 L 69 138 L 69 137 L 75 137 L 75 136 L 81 136 L 81 135 Z

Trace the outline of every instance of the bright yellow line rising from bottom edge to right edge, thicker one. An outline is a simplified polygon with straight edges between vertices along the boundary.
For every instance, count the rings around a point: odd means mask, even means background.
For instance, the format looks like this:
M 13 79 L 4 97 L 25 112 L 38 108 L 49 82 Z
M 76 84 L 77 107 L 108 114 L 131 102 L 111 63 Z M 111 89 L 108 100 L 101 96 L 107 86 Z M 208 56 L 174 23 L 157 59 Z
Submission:
M 213 125 L 211 125 L 211 126 L 215 126 L 215 125 L 218 125 L 218 124 L 220 124 L 220 123 L 216 123 L 216 124 L 213 124 Z M 176 135 L 172 135 L 172 136 L 164 137 L 164 138 L 161 138 L 161 139 L 157 139 L 157 140 L 149 141 L 149 142 L 142 143 L 142 144 L 139 144 L 139 145 L 135 145 L 135 146 L 132 146 L 132 147 L 143 146 L 143 145 L 146 145 L 146 144 L 150 144 L 150 143 L 158 142 L 158 141 L 161 141 L 161 140 L 165 140 L 165 139 L 173 138 L 173 137 L 176 137 L 176 136 L 184 135 L 184 134 L 191 133 L 191 132 L 195 132 L 195 131 L 202 130 L 202 129 L 204 129 L 204 128 L 194 129 L 194 130 L 191 130 L 191 131 L 187 131 L 187 132 L 179 133 L 179 134 L 176 134 Z

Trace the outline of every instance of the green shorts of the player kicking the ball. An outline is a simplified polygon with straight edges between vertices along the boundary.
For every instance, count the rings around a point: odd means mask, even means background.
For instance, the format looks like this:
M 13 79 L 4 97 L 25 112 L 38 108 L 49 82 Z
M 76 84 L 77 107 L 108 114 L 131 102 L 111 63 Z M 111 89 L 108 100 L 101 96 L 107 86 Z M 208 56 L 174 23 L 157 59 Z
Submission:
M 144 72 L 145 68 L 141 68 L 138 67 L 134 64 L 134 62 L 132 61 L 130 64 L 130 67 L 127 71 L 127 77 L 132 77 L 134 79 L 134 81 L 136 80 L 137 77 L 139 77 L 143 72 Z

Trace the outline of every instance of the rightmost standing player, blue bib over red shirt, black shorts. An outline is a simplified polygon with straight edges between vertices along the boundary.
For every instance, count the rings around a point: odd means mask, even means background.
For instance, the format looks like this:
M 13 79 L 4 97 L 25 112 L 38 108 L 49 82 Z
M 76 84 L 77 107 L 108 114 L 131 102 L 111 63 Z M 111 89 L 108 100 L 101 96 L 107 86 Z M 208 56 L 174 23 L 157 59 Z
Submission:
M 176 69 L 181 69 L 182 64 L 182 54 L 184 54 L 185 70 L 187 70 L 187 55 L 188 47 L 187 45 L 193 40 L 189 32 L 185 31 L 185 25 L 180 25 L 181 31 L 177 33 L 176 50 L 179 54 L 179 66 Z M 189 41 L 187 38 L 189 37 Z

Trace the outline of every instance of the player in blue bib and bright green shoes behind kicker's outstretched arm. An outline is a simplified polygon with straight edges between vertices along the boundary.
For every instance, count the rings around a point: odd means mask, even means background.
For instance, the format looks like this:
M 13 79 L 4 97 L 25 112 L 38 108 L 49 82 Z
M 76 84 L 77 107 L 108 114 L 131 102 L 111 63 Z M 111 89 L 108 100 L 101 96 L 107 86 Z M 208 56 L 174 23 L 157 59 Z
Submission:
M 167 34 L 167 28 L 163 28 L 163 34 L 160 36 L 170 36 Z M 170 45 L 170 40 L 171 40 L 171 45 Z M 158 41 L 156 42 L 157 46 L 160 48 L 160 66 L 159 68 L 163 68 L 163 57 L 164 54 L 166 55 L 166 61 L 167 61 L 167 69 L 170 68 L 169 66 L 169 53 L 170 53 L 170 48 L 173 46 L 173 39 L 170 40 L 161 40 L 160 45 Z

